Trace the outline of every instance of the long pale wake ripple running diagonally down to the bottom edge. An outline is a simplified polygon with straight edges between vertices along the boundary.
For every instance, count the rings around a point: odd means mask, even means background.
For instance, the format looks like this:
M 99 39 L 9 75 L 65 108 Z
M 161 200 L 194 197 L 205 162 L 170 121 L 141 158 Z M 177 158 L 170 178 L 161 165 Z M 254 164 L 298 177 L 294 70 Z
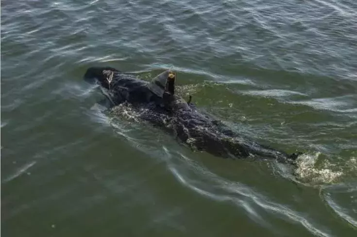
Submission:
M 169 151 L 164 148 L 167 153 Z M 321 236 L 329 237 L 330 235 L 324 232 L 322 229 L 316 227 L 312 220 L 307 220 L 305 217 L 299 214 L 299 212 L 294 211 L 287 206 L 273 203 L 264 197 L 260 193 L 256 193 L 254 190 L 247 186 L 239 184 L 238 182 L 233 182 L 229 180 L 224 180 L 216 174 L 211 173 L 206 170 L 203 166 L 197 165 L 191 159 L 180 154 L 183 158 L 185 164 L 185 169 L 182 172 L 179 171 L 179 166 L 174 163 L 173 159 L 168 159 L 168 166 L 172 174 L 185 186 L 191 190 L 212 198 L 217 201 L 230 201 L 242 207 L 246 210 L 247 214 L 252 218 L 252 220 L 259 222 L 259 224 L 269 226 L 262 216 L 260 216 L 259 208 L 265 211 L 270 211 L 272 213 L 280 215 L 283 219 L 289 218 L 291 221 L 298 222 L 302 224 L 311 233 Z M 176 160 L 178 162 L 179 159 Z M 182 161 L 181 161 L 182 162 Z M 188 173 L 193 172 L 195 175 L 203 176 L 204 179 L 208 179 L 210 185 L 207 186 L 206 182 L 200 182 L 196 178 L 191 178 Z M 192 175 L 192 174 L 191 174 Z M 214 187 L 214 188 L 212 188 Z M 232 195 L 235 194 L 235 195 Z M 238 196 L 237 196 L 238 194 Z

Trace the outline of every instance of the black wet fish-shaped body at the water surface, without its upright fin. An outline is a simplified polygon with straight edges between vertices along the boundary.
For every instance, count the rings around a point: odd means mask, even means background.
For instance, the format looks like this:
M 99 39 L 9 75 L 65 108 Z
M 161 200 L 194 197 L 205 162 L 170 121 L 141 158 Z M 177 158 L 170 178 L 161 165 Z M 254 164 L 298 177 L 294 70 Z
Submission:
M 101 73 L 106 69 L 115 72 L 110 86 Z M 173 103 L 170 110 L 167 110 L 162 106 L 162 98 L 148 89 L 147 81 L 120 73 L 114 68 L 89 68 L 85 80 L 93 82 L 95 79 L 107 91 L 106 96 L 111 101 L 111 107 L 124 102 L 130 103 L 138 111 L 141 109 L 139 119 L 166 130 L 197 150 L 224 158 L 274 158 L 284 163 L 294 163 L 297 158 L 298 154 L 288 155 L 243 138 L 220 121 L 200 112 L 192 104 L 184 103 L 186 105 L 182 106 L 182 102 Z

